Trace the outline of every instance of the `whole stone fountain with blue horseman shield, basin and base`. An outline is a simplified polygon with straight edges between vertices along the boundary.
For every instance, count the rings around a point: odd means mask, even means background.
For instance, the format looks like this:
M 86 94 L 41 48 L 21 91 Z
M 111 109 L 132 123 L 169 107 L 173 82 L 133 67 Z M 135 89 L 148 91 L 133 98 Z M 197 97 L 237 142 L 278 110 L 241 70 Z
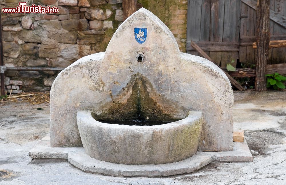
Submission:
M 144 8 L 120 25 L 106 52 L 57 76 L 50 133 L 29 156 L 64 158 L 111 176 L 170 176 L 212 161 L 252 161 L 246 141 L 233 142 L 225 73 L 181 53 L 168 27 Z

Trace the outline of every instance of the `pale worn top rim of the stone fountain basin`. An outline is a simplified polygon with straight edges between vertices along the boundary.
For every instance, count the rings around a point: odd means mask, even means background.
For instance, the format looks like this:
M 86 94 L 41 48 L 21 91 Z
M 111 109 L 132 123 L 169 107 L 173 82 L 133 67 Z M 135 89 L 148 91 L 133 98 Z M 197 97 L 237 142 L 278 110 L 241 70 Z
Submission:
M 84 118 L 82 119 L 88 119 L 85 121 L 86 124 L 92 124 L 94 125 L 98 125 L 101 127 L 108 127 L 108 128 L 116 128 L 116 129 L 126 129 L 126 128 L 130 128 L 130 129 L 134 129 L 135 127 L 138 128 L 144 128 L 144 129 L 162 129 L 162 128 L 166 128 L 166 127 L 172 127 L 172 126 L 178 126 L 180 125 L 186 125 L 186 124 L 194 124 L 195 120 L 198 119 L 198 117 L 202 116 L 202 113 L 199 111 L 188 111 L 187 116 L 183 119 L 177 120 L 177 121 L 173 121 L 170 123 L 164 123 L 164 124 L 160 124 L 160 125 L 124 125 L 124 124 L 114 124 L 114 123 L 103 123 L 100 121 L 97 121 L 96 119 L 94 119 L 92 117 L 92 111 L 77 111 L 77 115 L 81 114 L 84 115 Z M 108 121 L 108 120 L 106 120 Z M 92 126 L 91 125 L 91 126 Z

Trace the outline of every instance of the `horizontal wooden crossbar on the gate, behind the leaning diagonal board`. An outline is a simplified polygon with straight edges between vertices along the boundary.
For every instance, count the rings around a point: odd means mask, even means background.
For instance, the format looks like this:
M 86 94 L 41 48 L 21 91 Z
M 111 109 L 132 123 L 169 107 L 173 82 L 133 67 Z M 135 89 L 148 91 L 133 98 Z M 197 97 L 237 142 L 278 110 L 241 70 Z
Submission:
M 193 41 L 204 51 L 239 51 L 239 42 L 207 42 L 207 41 Z M 191 43 L 187 41 L 187 50 L 193 51 Z

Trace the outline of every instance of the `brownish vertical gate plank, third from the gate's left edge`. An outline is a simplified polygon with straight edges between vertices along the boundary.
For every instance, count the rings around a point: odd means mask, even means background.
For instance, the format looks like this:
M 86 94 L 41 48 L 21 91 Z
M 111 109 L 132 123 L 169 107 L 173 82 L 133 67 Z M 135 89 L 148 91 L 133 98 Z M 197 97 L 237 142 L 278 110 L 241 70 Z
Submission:
M 211 0 L 210 5 L 210 41 L 223 41 L 223 17 L 225 13 L 225 0 Z M 209 56 L 215 64 L 221 64 L 220 51 L 210 51 Z

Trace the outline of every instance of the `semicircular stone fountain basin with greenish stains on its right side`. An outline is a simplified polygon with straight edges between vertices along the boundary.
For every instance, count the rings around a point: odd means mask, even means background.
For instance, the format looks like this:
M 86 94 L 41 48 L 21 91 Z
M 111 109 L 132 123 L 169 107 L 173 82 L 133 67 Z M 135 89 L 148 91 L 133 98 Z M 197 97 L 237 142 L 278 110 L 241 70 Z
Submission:
M 90 111 L 78 111 L 77 125 L 85 152 L 118 164 L 165 164 L 194 155 L 202 130 L 202 113 L 163 125 L 118 125 L 96 121 Z

